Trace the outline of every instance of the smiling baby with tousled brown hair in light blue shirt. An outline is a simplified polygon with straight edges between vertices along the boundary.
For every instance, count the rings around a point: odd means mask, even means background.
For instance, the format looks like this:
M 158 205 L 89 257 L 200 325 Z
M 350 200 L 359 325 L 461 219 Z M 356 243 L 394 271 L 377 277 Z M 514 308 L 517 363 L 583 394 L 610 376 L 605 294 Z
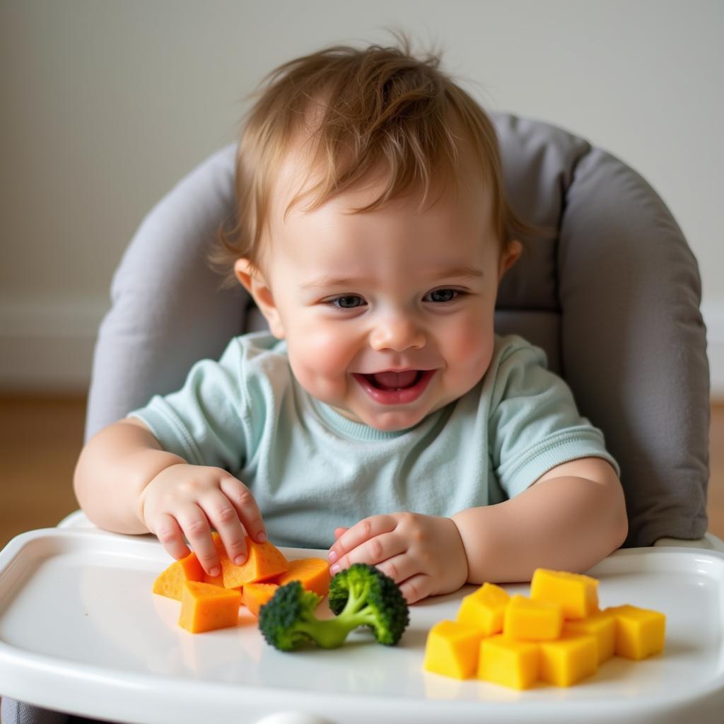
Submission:
M 216 254 L 269 332 L 90 439 L 88 518 L 174 558 L 188 541 L 211 576 L 213 529 L 237 563 L 245 535 L 329 548 L 332 573 L 376 565 L 409 602 L 615 550 L 626 509 L 602 434 L 541 350 L 494 332 L 526 230 L 500 166 L 484 111 L 404 43 L 274 71 Z

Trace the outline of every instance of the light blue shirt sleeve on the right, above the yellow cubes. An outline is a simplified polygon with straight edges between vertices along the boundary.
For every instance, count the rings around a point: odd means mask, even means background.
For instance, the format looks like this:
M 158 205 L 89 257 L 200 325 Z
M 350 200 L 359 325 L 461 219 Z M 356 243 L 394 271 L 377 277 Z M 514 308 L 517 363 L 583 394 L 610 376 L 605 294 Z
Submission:
M 602 432 L 579 415 L 571 389 L 547 369 L 543 350 L 519 338 L 499 353 L 488 430 L 492 466 L 509 498 L 578 458 L 603 458 L 620 475 Z

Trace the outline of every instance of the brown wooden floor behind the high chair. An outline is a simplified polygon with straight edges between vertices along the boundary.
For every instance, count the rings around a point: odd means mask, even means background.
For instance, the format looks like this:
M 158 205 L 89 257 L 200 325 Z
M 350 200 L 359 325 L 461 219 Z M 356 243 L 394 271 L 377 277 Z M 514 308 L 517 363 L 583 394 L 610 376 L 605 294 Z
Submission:
M 0 396 L 0 548 L 77 509 L 71 479 L 85 400 Z M 709 529 L 724 538 L 724 403 L 712 408 Z

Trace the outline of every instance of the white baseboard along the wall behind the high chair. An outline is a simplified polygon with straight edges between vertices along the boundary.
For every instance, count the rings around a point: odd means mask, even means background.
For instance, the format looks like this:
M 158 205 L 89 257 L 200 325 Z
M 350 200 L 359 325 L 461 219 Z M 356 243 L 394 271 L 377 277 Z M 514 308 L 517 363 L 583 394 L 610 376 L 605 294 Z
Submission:
M 0 298 L 0 390 L 88 389 L 104 297 Z M 712 397 L 724 400 L 724 303 L 702 307 L 707 325 Z

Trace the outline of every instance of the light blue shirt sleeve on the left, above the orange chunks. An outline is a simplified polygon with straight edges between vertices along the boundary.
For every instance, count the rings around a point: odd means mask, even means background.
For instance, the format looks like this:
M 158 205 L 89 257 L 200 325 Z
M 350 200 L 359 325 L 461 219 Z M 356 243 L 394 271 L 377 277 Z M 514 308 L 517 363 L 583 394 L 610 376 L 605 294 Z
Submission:
M 195 363 L 181 390 L 156 395 L 128 416 L 145 422 L 164 450 L 188 463 L 238 471 L 254 438 L 244 357 L 243 345 L 232 340 L 219 361 Z

